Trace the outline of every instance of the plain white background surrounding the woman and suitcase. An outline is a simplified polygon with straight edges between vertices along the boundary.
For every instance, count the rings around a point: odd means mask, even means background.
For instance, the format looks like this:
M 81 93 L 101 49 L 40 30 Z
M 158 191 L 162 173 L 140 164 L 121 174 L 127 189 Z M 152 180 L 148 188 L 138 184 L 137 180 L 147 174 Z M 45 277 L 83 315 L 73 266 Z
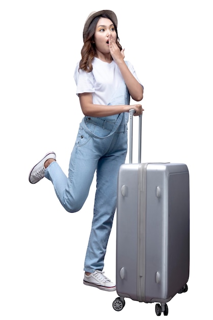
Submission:
M 125 59 L 144 84 L 142 161 L 183 162 L 190 171 L 189 290 L 168 303 L 168 317 L 209 318 L 211 1 L 72 3 L 5 0 L 0 5 L 0 318 L 104 320 L 129 318 L 136 312 L 137 317 L 156 319 L 154 304 L 126 299 L 125 308 L 116 312 L 112 308 L 116 292 L 83 285 L 95 181 L 84 208 L 75 214 L 62 208 L 50 181 L 36 185 L 28 181 L 31 167 L 48 151 L 56 152 L 68 172 L 83 117 L 73 72 L 81 58 L 84 22 L 91 11 L 102 9 L 116 12 Z M 115 227 L 116 223 L 104 267 L 112 281 Z

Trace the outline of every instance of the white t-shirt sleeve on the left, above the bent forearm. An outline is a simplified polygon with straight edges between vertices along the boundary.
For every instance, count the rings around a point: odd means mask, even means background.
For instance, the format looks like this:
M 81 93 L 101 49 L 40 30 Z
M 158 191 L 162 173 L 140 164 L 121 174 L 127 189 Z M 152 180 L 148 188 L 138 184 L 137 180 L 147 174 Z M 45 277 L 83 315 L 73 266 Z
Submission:
M 76 95 L 83 93 L 93 93 L 94 89 L 94 77 L 92 72 L 86 72 L 79 69 L 79 63 L 77 63 L 74 71 L 74 80 L 76 83 Z

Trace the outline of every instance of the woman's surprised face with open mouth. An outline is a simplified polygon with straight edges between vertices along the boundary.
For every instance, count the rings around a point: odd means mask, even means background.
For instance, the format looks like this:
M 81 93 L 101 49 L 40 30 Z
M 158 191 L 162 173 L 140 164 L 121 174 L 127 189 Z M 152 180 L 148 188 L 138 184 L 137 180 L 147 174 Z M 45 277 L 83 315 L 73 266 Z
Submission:
M 101 53 L 109 53 L 109 35 L 112 34 L 114 40 L 117 39 L 117 34 L 115 32 L 115 28 L 113 22 L 108 18 L 100 18 L 97 22 L 95 33 L 94 33 L 94 41 L 96 50 Z

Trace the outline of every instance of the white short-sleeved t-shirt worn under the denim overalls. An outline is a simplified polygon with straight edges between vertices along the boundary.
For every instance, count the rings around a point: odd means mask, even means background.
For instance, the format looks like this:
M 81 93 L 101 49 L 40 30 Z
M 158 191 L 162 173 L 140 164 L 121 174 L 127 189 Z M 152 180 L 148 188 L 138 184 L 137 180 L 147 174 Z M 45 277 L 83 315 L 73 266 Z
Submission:
M 129 61 L 125 62 L 132 75 L 139 81 L 132 64 Z M 82 69 L 78 70 L 79 62 L 77 63 L 74 72 L 74 80 L 77 86 L 76 95 L 92 93 L 94 104 L 109 105 L 120 84 L 124 83 L 119 67 L 114 61 L 111 63 L 103 62 L 96 57 L 93 59 L 92 66 L 92 72 L 87 73 Z

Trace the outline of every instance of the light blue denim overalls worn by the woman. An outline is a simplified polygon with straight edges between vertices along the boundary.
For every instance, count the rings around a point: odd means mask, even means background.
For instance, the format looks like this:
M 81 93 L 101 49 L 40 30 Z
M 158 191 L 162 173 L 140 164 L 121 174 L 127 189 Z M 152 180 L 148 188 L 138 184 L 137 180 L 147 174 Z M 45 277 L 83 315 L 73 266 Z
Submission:
M 110 104 L 129 104 L 125 83 L 121 83 Z M 127 122 L 126 112 L 104 118 L 84 117 L 71 153 L 68 178 L 57 162 L 45 170 L 45 177 L 68 212 L 81 210 L 96 171 L 93 221 L 84 266 L 88 272 L 102 271 L 104 266 L 116 210 L 118 171 L 127 153 Z

